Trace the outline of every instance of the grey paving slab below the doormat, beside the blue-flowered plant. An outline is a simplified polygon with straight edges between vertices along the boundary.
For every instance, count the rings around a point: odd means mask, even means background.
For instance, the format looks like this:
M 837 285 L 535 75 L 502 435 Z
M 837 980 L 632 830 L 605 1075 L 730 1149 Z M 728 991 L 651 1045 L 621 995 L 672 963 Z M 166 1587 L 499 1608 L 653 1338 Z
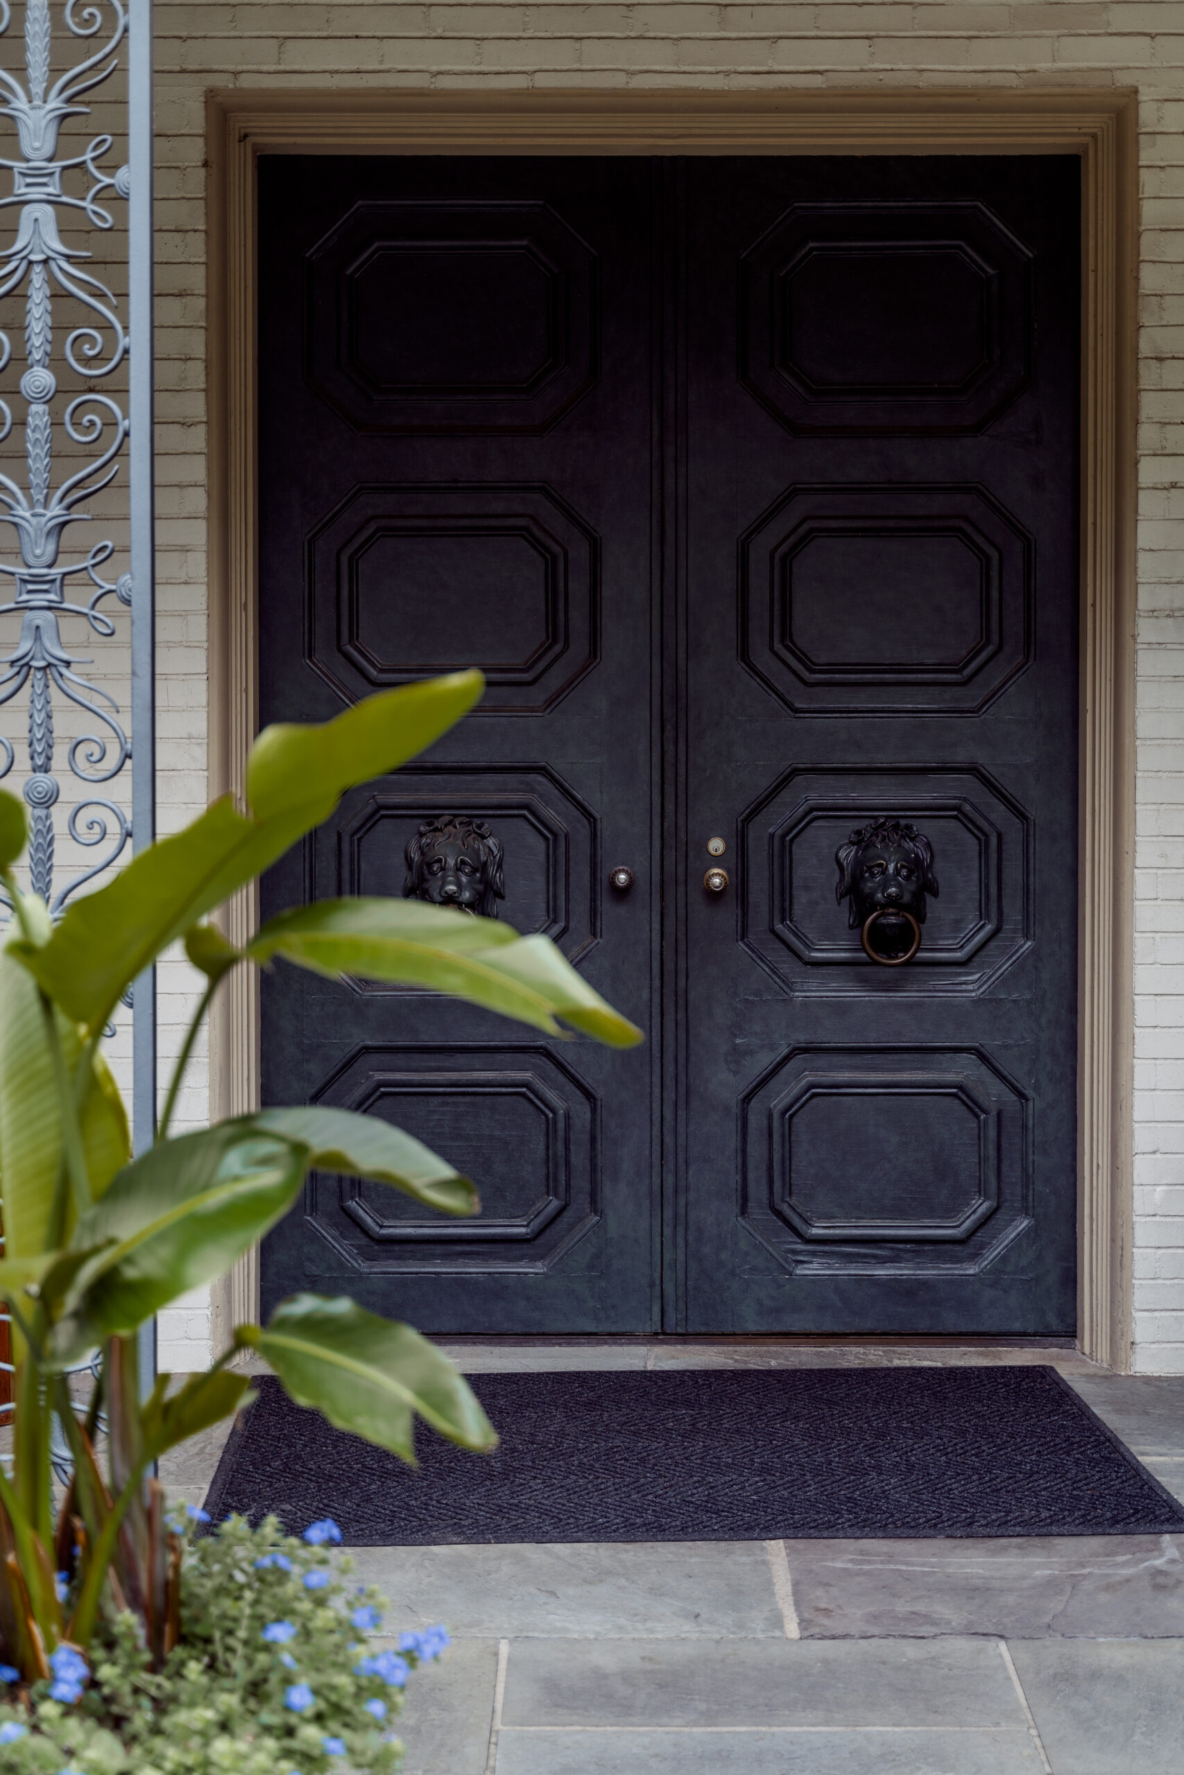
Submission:
M 785 1638 L 763 1541 L 351 1548 L 399 1628 L 462 1637 Z

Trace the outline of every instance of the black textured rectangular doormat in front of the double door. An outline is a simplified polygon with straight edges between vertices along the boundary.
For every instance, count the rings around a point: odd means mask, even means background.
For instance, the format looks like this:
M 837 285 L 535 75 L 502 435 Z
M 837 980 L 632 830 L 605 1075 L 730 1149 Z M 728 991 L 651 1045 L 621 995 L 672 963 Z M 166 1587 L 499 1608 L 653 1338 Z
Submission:
M 206 1509 L 351 1546 L 1129 1535 L 1184 1509 L 1047 1367 L 483 1374 L 501 1432 L 419 1468 L 259 1383 Z

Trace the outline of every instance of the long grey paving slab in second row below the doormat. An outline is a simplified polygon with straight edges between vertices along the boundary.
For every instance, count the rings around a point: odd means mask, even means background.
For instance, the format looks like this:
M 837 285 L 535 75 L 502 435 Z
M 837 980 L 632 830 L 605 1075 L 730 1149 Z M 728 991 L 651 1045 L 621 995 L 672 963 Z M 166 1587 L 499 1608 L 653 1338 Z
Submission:
M 992 1640 L 522 1640 L 502 1724 L 1026 1727 Z

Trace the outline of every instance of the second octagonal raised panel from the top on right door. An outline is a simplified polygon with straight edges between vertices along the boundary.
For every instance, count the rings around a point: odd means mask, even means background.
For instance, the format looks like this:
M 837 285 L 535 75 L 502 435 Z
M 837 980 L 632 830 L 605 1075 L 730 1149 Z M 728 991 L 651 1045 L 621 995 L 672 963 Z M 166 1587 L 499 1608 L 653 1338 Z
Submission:
M 1031 659 L 1031 541 L 978 486 L 793 486 L 740 540 L 742 657 L 795 714 L 980 714 Z

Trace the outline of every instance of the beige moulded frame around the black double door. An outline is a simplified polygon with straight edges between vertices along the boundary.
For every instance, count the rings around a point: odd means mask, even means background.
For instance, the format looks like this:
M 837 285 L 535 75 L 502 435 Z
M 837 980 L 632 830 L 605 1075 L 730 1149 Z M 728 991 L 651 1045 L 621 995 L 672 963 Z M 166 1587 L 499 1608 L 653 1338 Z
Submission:
M 447 92 L 273 87 L 206 98 L 209 795 L 241 797 L 257 728 L 256 158 L 288 154 L 1077 154 L 1081 158 L 1081 696 L 1077 1345 L 1133 1353 L 1138 94 Z M 225 914 L 243 943 L 254 893 Z M 257 974 L 209 1028 L 211 1115 L 259 1102 Z M 259 1306 L 257 1248 L 213 1290 L 213 1337 Z

